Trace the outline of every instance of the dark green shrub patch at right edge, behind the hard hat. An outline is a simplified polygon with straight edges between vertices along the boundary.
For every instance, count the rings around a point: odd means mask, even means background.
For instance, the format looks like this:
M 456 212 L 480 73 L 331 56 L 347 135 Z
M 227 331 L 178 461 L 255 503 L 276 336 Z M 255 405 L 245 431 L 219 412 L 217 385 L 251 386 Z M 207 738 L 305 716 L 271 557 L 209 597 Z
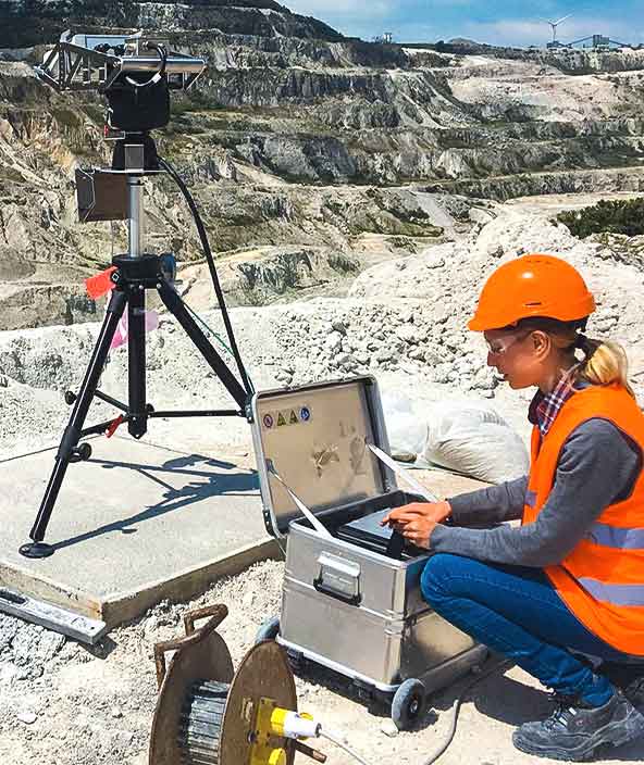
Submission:
M 602 200 L 591 208 L 559 213 L 557 221 L 580 239 L 603 231 L 635 237 L 644 234 L 644 199 Z

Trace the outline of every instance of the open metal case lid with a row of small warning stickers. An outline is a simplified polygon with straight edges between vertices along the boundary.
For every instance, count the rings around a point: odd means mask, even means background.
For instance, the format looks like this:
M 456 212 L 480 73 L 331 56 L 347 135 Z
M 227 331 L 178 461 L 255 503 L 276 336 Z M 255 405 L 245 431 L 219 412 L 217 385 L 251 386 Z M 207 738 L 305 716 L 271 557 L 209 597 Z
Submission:
M 282 480 L 315 515 L 396 489 L 393 473 L 368 449 L 389 444 L 373 377 L 256 393 L 252 438 L 270 534 L 302 517 Z

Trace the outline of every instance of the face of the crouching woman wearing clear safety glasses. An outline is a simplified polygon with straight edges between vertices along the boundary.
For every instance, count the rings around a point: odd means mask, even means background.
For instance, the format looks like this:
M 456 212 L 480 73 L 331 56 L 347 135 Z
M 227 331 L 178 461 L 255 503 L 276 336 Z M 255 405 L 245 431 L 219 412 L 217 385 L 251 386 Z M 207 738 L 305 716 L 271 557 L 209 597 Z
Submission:
M 540 333 L 541 334 L 541 333 Z M 510 388 L 538 385 L 542 354 L 532 330 L 490 329 L 483 333 L 487 344 L 487 366 L 492 366 Z

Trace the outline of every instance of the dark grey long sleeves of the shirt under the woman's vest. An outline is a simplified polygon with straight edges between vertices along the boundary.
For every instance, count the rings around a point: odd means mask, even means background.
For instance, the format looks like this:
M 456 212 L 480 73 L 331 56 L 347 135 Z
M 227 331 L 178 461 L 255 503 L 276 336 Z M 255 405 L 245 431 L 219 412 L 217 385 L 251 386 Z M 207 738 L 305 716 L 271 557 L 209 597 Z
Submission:
M 580 425 L 566 440 L 555 484 L 536 521 L 492 529 L 462 528 L 520 518 L 528 477 L 449 500 L 454 526 L 437 526 L 430 548 L 479 561 L 519 566 L 560 563 L 602 511 L 632 492 L 642 469 L 636 443 L 605 419 Z

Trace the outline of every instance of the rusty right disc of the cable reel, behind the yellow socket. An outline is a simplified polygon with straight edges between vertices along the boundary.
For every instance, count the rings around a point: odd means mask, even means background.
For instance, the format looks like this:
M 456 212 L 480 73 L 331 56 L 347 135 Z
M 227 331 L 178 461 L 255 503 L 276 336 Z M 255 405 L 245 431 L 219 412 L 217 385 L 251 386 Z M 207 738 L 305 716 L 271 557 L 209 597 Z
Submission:
M 252 743 L 248 740 L 259 700 L 273 699 L 276 706 L 297 712 L 295 680 L 284 649 L 273 640 L 255 645 L 244 657 L 228 692 L 224 713 L 220 765 L 246 765 Z M 286 742 L 286 765 L 293 765 L 295 748 Z M 151 764 L 150 764 L 151 765 Z

